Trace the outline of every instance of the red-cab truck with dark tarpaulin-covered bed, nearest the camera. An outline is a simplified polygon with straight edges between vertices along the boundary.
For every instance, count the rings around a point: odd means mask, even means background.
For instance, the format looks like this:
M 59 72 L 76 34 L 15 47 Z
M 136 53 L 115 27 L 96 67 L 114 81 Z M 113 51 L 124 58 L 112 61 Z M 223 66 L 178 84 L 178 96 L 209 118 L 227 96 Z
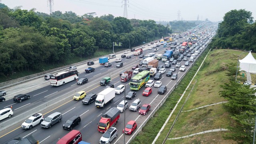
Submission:
M 98 124 L 99 132 L 106 132 L 108 128 L 114 126 L 117 120 L 120 118 L 120 110 L 116 107 L 111 108 L 105 114 L 102 115 Z

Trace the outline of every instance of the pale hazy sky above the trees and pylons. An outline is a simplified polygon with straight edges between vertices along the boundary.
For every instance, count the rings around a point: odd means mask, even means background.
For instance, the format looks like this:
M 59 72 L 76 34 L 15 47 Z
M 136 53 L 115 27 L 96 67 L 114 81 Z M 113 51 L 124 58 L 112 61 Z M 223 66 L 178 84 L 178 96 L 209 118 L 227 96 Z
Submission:
M 22 9 L 36 9 L 36 12 L 49 14 L 49 0 L 0 0 L 9 8 L 22 6 Z M 96 12 L 95 16 L 112 14 L 123 16 L 124 0 L 52 0 L 53 11 L 72 11 L 79 16 Z M 220 21 L 226 12 L 245 9 L 256 19 L 256 0 L 126 0 L 128 19 L 172 21 L 208 20 Z

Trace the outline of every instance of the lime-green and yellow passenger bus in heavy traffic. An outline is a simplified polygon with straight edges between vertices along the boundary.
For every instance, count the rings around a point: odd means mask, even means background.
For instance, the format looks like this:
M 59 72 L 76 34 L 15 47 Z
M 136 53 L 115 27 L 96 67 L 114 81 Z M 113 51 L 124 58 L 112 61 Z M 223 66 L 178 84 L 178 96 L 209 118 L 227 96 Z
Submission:
M 148 82 L 149 78 L 150 78 L 150 76 L 149 76 L 148 70 L 144 70 L 144 71 L 138 73 L 136 76 L 134 76 L 131 79 L 131 82 L 129 83 L 130 89 L 131 90 L 139 90 Z

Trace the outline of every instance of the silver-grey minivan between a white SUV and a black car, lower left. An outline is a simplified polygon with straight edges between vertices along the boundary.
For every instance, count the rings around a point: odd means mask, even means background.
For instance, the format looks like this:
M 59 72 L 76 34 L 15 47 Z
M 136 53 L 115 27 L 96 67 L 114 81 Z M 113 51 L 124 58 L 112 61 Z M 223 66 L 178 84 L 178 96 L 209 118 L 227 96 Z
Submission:
M 41 122 L 41 126 L 43 128 L 51 128 L 52 125 L 56 124 L 57 122 L 60 122 L 62 120 L 62 114 L 60 112 L 54 112 L 53 114 L 50 114 L 47 116 L 44 121 Z

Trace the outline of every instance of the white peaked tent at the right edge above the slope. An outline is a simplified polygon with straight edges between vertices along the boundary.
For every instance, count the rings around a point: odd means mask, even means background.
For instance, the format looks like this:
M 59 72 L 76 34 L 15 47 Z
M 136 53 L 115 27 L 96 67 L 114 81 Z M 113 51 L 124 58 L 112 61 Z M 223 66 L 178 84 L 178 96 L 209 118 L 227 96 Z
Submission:
M 239 60 L 240 62 L 240 70 L 244 70 L 246 72 L 252 72 L 256 73 L 256 60 L 252 56 L 252 53 L 249 52 L 249 54 L 243 58 L 242 60 Z

